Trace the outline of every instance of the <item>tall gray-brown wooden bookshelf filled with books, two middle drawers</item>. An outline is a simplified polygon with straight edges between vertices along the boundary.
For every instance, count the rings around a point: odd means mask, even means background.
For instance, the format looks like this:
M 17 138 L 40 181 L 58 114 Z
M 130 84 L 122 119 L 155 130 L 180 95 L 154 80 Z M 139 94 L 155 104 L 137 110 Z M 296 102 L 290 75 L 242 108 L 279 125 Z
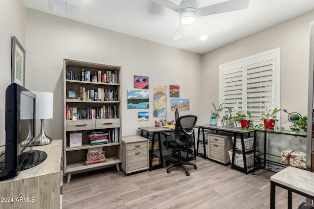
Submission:
M 83 70 L 82 70 L 83 69 Z M 87 74 L 89 72 L 89 74 Z M 64 59 L 64 173 L 71 175 L 121 163 L 121 67 Z M 75 97 L 69 97 L 75 92 Z M 88 133 L 108 133 L 108 143 L 91 145 Z M 70 147 L 70 135 L 82 133 L 81 145 Z M 85 165 L 88 149 L 101 147 L 105 163 Z

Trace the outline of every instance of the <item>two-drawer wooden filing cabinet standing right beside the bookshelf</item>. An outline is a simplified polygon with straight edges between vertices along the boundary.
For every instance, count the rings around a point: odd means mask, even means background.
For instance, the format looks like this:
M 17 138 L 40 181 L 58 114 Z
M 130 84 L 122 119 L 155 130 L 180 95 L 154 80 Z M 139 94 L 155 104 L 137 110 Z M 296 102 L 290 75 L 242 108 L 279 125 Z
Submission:
M 122 137 L 122 164 L 125 173 L 132 173 L 149 168 L 148 139 L 138 136 Z

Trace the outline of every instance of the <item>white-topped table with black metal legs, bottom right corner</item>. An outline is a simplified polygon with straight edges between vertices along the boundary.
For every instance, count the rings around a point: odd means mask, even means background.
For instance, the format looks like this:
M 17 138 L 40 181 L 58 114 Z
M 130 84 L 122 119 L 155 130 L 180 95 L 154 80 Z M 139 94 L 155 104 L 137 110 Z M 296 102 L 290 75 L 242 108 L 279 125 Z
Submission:
M 288 166 L 270 177 L 270 209 L 276 208 L 276 186 L 288 190 L 288 209 L 292 209 L 292 192 L 314 199 L 314 173 Z

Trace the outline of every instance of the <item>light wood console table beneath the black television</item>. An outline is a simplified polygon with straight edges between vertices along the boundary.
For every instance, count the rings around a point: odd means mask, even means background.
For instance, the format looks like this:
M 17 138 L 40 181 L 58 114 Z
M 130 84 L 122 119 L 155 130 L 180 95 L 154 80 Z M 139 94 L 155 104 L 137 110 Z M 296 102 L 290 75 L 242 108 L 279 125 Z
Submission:
M 1 209 L 62 208 L 62 140 L 32 149 L 45 151 L 47 159 L 14 178 L 0 181 Z

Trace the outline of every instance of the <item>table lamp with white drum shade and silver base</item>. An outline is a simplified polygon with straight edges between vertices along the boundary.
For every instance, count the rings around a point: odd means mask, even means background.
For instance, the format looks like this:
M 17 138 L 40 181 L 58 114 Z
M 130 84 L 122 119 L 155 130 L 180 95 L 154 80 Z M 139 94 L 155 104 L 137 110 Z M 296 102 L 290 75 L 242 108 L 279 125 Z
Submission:
M 35 145 L 50 144 L 52 139 L 45 134 L 44 119 L 53 118 L 53 93 L 33 92 L 36 94 L 36 118 L 40 119 L 40 133 L 35 138 Z

